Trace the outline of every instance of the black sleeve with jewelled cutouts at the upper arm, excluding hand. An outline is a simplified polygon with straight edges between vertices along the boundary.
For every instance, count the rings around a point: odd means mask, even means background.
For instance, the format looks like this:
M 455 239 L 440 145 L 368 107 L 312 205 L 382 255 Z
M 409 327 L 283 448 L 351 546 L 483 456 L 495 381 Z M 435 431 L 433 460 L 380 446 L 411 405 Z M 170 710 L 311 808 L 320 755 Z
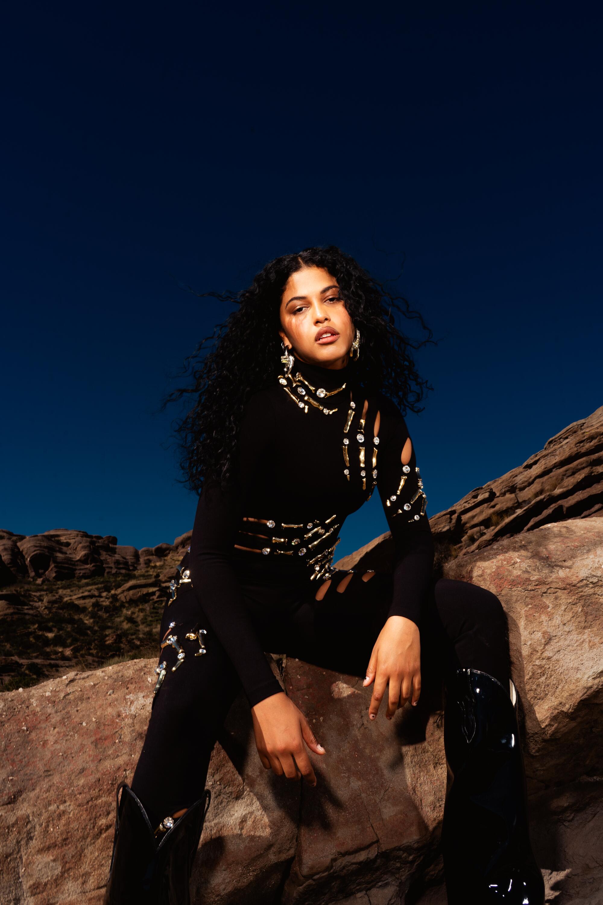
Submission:
M 420 625 L 421 606 L 433 570 L 433 538 L 425 511 L 427 498 L 417 468 L 414 443 L 408 464 L 401 453 L 409 431 L 397 405 L 382 398 L 386 430 L 379 450 L 377 488 L 395 549 L 393 595 L 389 614 Z

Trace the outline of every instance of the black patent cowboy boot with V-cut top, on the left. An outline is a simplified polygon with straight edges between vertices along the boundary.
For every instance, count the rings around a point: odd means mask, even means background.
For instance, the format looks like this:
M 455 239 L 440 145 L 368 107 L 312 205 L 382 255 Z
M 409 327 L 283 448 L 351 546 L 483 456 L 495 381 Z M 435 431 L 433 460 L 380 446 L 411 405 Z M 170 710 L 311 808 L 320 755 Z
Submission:
M 155 836 L 145 808 L 121 783 L 103 905 L 190 905 L 189 879 L 210 798 L 206 789 L 182 817 L 165 817 Z

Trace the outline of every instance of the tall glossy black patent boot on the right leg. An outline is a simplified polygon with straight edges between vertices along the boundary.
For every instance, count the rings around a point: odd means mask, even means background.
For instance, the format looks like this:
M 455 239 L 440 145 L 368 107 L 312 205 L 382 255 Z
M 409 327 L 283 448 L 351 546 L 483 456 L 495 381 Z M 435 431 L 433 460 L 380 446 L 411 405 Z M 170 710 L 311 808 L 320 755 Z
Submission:
M 446 683 L 448 790 L 442 853 L 448 905 L 543 905 L 530 843 L 516 711 L 503 685 L 478 670 Z

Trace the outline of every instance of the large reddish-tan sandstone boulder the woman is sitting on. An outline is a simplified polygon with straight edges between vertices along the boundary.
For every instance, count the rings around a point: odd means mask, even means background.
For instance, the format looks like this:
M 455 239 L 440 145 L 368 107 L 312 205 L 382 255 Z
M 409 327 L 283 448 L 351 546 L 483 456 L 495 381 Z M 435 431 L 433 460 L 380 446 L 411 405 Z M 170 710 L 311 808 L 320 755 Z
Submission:
M 534 844 L 549 900 L 600 901 L 603 519 L 575 519 L 458 557 L 509 615 L 525 715 Z M 155 660 L 71 672 L 0 696 L 0 900 L 99 902 L 113 790 L 131 778 Z M 237 700 L 212 756 L 195 905 L 443 902 L 441 713 L 367 719 L 362 682 L 288 659 L 287 693 L 326 748 L 312 789 L 265 771 Z M 421 898 L 422 897 L 422 898 Z

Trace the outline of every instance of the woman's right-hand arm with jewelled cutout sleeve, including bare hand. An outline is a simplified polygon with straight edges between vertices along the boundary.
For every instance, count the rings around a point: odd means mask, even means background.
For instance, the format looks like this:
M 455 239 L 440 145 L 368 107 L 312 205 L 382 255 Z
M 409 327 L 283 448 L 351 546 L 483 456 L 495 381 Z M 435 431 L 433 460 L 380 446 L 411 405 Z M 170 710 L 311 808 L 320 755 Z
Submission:
M 420 614 L 433 569 L 427 497 L 414 446 L 400 410 L 382 399 L 385 424 L 378 488 L 395 548 L 389 618 L 372 649 L 364 685 L 374 681 L 369 716 L 375 719 L 389 685 L 386 717 L 420 694 Z M 381 433 L 381 432 L 380 432 Z

